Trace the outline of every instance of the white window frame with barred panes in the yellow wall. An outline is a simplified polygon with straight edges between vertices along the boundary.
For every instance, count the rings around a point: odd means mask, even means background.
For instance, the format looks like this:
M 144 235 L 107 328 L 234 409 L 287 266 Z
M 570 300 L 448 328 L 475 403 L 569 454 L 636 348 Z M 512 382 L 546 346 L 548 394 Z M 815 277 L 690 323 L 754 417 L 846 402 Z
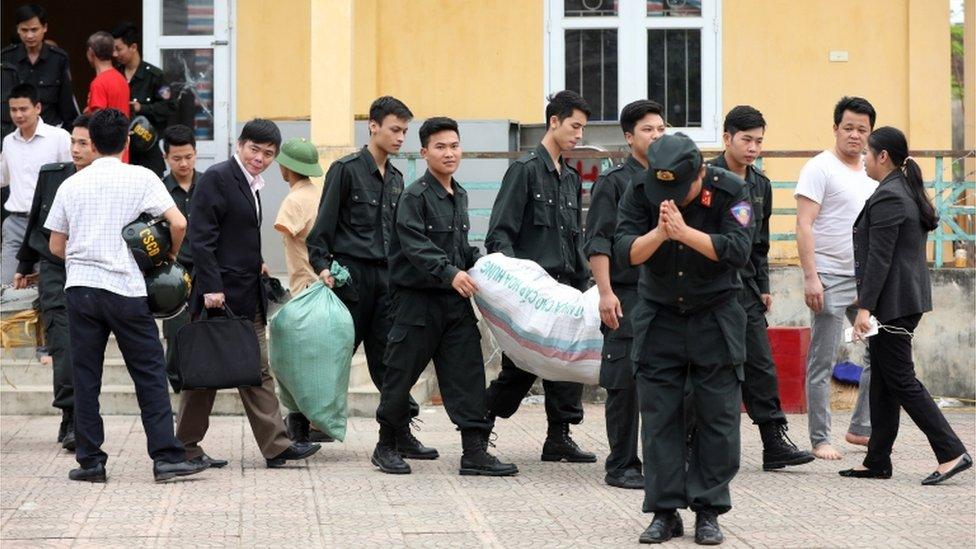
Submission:
M 645 0 L 618 0 L 616 16 L 564 17 L 563 0 L 545 0 L 545 95 L 566 88 L 566 34 L 569 29 L 617 30 L 617 108 L 647 98 L 647 31 L 701 29 L 702 126 L 673 127 L 703 146 L 719 145 L 722 120 L 722 2 L 702 0 L 701 17 L 647 16 Z M 660 99 L 660 98 L 652 98 Z

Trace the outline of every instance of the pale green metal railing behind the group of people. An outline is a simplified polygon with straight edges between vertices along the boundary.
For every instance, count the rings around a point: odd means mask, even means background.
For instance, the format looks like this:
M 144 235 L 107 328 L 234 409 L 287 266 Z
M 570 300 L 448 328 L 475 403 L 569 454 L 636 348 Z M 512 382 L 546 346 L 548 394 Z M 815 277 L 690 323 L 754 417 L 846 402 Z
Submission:
M 764 158 L 811 158 L 820 154 L 822 151 L 764 151 L 762 158 L 757 161 L 761 167 Z M 705 158 L 712 158 L 720 151 L 702 151 Z M 466 152 L 465 160 L 514 160 L 523 156 L 524 152 Z M 620 161 L 629 155 L 623 151 L 574 151 L 566 154 L 567 160 L 598 160 L 600 170 L 610 167 L 614 162 Z M 966 191 L 976 191 L 976 181 L 947 181 L 943 178 L 945 159 L 962 159 L 964 157 L 976 156 L 976 150 L 948 151 L 912 151 L 914 158 L 934 158 L 935 175 L 931 181 L 926 181 L 925 186 L 934 191 L 934 203 L 936 213 L 939 214 L 941 226 L 938 230 L 929 234 L 929 241 L 934 244 L 933 255 L 936 267 L 942 267 L 945 263 L 944 244 L 947 242 L 976 242 L 976 234 L 966 232 L 957 222 L 958 216 L 969 216 L 969 226 L 976 226 L 976 206 L 957 204 L 964 198 Z M 414 181 L 419 174 L 417 173 L 417 160 L 420 155 L 417 153 L 405 153 L 397 156 L 399 159 L 407 161 L 406 181 Z M 969 174 L 970 176 L 972 174 Z M 464 188 L 469 191 L 498 191 L 501 181 L 462 181 Z M 593 186 L 592 181 L 584 181 L 583 188 L 589 191 Z M 773 189 L 794 189 L 796 181 L 773 181 Z M 796 208 L 773 208 L 774 216 L 795 216 Z M 485 218 L 491 216 L 491 208 L 470 208 L 469 214 L 475 218 Z M 771 233 L 770 240 L 777 242 L 793 242 L 796 240 L 796 233 L 776 232 Z M 471 233 L 472 241 L 482 242 L 485 239 L 484 233 Z

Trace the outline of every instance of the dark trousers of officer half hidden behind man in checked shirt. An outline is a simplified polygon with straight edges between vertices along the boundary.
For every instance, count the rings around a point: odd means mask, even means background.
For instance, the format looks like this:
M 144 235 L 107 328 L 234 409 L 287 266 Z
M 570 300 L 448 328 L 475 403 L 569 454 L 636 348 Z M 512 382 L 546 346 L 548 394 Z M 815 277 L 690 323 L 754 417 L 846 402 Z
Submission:
M 75 408 L 75 389 L 71 373 L 71 337 L 68 334 L 68 309 L 64 298 L 64 265 L 41 261 L 38 293 L 44 339 L 53 367 L 55 408 L 72 413 Z

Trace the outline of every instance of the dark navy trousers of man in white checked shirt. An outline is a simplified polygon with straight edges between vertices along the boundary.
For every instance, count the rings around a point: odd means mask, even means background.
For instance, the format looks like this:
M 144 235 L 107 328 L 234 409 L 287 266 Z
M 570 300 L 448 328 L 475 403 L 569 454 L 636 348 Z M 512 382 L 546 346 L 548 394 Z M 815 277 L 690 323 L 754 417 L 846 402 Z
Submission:
M 136 386 L 150 457 L 171 463 L 186 459 L 183 445 L 173 434 L 163 347 L 146 298 L 88 287 L 69 288 L 66 294 L 75 381 L 75 459 L 82 467 L 108 460 L 101 450 L 105 429 L 98 397 L 110 332 L 115 334 Z

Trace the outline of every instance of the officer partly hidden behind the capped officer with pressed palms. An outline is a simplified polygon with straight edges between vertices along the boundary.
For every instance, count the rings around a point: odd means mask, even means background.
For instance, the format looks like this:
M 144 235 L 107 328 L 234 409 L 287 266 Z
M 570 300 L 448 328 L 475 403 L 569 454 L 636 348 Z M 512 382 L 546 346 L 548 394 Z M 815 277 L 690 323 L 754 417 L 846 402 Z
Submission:
M 617 228 L 620 197 L 631 180 L 647 169 L 647 147 L 664 135 L 661 112 L 661 105 L 647 99 L 634 101 L 620 111 L 620 127 L 630 146 L 630 156 L 603 172 L 593 185 L 583 247 L 600 291 L 600 317 L 603 320 L 600 386 L 607 390 L 606 423 L 610 444 L 604 481 L 610 486 L 636 490 L 644 487 L 644 476 L 637 456 L 640 408 L 630 347 L 633 340 L 631 316 L 637 303 L 640 272 L 630 265 L 628 257 L 614 261 L 619 258 L 613 255 L 613 235 Z

